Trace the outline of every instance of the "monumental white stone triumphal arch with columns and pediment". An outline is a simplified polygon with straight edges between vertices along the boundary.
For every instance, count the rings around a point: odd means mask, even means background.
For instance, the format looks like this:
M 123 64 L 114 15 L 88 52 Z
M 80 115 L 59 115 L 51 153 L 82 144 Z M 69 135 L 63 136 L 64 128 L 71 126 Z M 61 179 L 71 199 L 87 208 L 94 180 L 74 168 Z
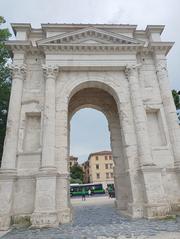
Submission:
M 0 170 L 0 229 L 72 220 L 70 120 L 95 108 L 108 120 L 116 208 L 131 217 L 180 209 L 180 129 L 164 26 L 12 24 L 12 89 Z

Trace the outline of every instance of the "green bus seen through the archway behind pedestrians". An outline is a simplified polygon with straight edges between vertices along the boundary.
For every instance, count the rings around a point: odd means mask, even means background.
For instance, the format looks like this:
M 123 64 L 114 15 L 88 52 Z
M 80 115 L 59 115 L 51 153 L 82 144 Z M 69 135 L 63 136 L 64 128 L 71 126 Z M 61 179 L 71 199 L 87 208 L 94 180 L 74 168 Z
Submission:
M 88 190 L 91 190 L 91 195 L 95 194 L 105 194 L 105 190 L 101 183 L 88 183 L 88 184 L 70 184 L 70 195 L 72 196 L 82 196 L 82 190 L 85 189 L 86 195 L 88 195 Z

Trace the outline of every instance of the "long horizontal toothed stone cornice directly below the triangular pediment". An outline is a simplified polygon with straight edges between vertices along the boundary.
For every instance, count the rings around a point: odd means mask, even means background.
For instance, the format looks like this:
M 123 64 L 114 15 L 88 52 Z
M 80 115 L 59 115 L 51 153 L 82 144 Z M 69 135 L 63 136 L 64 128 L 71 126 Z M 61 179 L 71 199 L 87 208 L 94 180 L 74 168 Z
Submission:
M 45 55 L 46 52 L 52 52 L 57 54 L 58 52 L 63 53 L 103 53 L 107 52 L 118 54 L 119 52 L 143 52 L 143 53 L 153 53 L 159 52 L 167 55 L 170 49 L 172 48 L 174 42 L 151 42 L 148 46 L 142 46 L 138 44 L 43 44 L 41 46 L 32 46 L 28 41 L 9 41 L 6 42 L 6 45 L 12 51 L 24 51 L 27 54 L 40 54 Z

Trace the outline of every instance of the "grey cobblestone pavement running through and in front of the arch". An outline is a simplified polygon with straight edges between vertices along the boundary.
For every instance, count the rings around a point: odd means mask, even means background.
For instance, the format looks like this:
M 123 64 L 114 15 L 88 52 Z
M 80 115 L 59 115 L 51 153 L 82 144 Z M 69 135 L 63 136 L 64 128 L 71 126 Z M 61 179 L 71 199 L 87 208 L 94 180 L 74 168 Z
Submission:
M 74 220 L 56 229 L 13 229 L 3 239 L 160 238 L 159 233 L 180 233 L 180 218 L 130 220 L 116 213 L 113 202 L 74 205 Z M 170 234 L 169 234 L 170 235 Z M 179 234 L 180 235 L 180 234 Z M 165 237 L 161 237 L 165 238 Z M 180 238 L 168 236 L 168 239 Z

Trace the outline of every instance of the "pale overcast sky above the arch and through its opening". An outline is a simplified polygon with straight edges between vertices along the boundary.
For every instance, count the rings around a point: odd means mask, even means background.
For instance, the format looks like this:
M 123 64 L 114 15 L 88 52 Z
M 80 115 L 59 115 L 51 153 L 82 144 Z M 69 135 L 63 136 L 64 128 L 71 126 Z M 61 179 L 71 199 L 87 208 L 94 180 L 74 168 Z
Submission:
M 33 27 L 40 27 L 41 23 L 137 24 L 139 29 L 148 24 L 166 25 L 163 40 L 175 41 L 168 55 L 171 87 L 180 90 L 179 0 L 0 0 L 0 15 L 9 28 L 11 22 L 31 23 Z M 81 159 L 98 148 L 107 149 L 105 117 L 94 110 L 76 113 L 71 138 L 72 153 Z

